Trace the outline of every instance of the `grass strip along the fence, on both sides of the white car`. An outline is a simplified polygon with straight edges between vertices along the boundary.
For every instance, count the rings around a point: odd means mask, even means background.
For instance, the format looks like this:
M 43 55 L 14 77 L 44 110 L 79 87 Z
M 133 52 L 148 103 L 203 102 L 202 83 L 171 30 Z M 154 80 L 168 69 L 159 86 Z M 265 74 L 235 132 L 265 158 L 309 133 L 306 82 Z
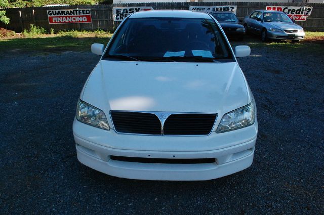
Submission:
M 63 52 L 63 51 L 90 51 L 91 44 L 107 44 L 112 33 L 103 30 L 95 31 L 59 31 L 54 29 L 47 32 L 44 28 L 30 25 L 20 36 L 0 38 L 0 52 L 10 50 Z M 324 32 L 306 32 L 305 40 L 298 44 L 290 41 L 262 42 L 259 37 L 249 35 L 244 41 L 231 42 L 232 45 L 248 45 L 254 47 L 268 47 L 288 52 L 294 51 L 321 51 L 324 48 Z

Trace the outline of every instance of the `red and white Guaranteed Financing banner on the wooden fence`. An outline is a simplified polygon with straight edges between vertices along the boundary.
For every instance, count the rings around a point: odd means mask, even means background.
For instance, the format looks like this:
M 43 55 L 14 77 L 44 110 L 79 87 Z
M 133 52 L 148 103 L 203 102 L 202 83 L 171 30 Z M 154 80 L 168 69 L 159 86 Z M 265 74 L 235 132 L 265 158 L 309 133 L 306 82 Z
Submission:
M 68 9 L 47 11 L 50 24 L 91 23 L 90 9 Z

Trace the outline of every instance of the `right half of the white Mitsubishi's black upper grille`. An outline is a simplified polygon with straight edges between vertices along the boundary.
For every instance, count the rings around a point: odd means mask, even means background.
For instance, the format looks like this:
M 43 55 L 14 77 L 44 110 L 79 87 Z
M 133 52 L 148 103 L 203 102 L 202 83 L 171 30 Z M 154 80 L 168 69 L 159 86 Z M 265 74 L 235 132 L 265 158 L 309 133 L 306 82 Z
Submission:
M 164 123 L 164 135 L 208 135 L 216 114 L 172 114 Z

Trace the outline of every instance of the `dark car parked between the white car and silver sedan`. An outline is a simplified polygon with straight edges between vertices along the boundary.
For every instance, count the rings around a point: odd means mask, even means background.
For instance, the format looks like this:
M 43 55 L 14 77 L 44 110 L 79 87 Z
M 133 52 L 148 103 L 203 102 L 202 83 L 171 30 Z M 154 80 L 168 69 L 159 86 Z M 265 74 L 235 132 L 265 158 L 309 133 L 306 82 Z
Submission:
M 244 38 L 244 26 L 240 24 L 241 20 L 238 20 L 235 14 L 232 12 L 213 12 L 211 15 L 217 19 L 227 37 L 239 40 Z

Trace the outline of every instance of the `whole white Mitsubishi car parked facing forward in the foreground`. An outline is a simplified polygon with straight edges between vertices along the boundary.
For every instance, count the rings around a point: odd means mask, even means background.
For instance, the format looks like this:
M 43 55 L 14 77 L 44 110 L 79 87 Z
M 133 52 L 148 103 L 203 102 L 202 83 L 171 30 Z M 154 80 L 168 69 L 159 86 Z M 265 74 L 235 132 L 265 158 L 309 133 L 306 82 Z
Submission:
M 256 105 L 215 18 L 190 11 L 128 16 L 77 103 L 78 160 L 142 180 L 210 180 L 252 164 Z

